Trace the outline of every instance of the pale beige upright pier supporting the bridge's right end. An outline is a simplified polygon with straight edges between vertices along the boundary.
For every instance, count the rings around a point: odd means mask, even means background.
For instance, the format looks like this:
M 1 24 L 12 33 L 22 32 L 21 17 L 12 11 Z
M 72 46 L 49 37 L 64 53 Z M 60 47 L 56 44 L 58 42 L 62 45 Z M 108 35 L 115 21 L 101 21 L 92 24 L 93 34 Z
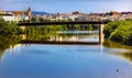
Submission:
M 103 29 L 106 24 L 100 24 L 99 26 L 99 44 L 103 44 L 105 42 L 105 34 L 103 34 Z

